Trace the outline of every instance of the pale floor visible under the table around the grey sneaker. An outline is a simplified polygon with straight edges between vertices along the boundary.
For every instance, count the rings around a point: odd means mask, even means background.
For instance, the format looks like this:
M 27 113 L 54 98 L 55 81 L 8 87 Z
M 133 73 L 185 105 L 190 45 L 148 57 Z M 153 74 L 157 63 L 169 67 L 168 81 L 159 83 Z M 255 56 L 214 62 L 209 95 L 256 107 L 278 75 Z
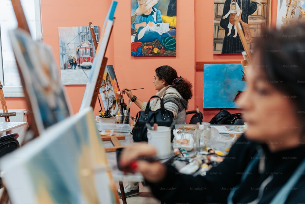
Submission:
M 127 184 L 128 182 L 123 182 L 124 186 Z M 119 182 L 115 181 L 115 185 L 116 188 L 119 189 Z M 139 185 L 139 189 L 140 189 L 140 194 L 139 195 L 135 195 L 135 196 L 131 196 L 126 198 L 126 202 L 127 204 L 160 204 L 160 201 L 157 200 L 156 198 L 153 198 L 149 187 L 147 186 L 143 186 L 141 183 Z M 120 199 L 120 203 L 122 204 L 122 199 Z

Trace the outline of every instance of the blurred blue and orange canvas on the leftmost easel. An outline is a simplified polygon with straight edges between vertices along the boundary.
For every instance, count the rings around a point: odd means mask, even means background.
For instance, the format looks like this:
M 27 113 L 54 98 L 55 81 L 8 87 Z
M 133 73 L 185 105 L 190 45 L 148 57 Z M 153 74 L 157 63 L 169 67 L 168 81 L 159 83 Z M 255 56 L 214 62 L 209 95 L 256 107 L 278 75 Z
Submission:
M 38 134 L 72 114 L 50 47 L 17 28 L 9 32 L 27 106 Z M 36 135 L 38 136 L 38 135 Z

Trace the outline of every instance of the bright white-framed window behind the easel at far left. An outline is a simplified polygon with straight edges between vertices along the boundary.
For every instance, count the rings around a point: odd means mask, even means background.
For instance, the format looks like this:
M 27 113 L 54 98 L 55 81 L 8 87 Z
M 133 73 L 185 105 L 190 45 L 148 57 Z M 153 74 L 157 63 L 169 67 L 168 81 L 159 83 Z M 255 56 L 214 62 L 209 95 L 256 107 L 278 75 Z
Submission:
M 42 39 L 40 0 L 20 0 L 32 38 Z M 8 31 L 17 28 L 11 0 L 0 1 L 0 80 L 5 97 L 23 97 L 19 72 Z

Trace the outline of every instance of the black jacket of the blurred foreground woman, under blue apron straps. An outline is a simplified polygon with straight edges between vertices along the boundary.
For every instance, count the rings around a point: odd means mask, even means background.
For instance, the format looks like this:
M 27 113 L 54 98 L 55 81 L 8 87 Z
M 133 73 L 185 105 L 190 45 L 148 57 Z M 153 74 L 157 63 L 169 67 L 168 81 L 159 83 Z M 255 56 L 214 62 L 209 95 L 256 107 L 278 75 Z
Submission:
M 262 149 L 265 156 L 260 156 L 259 162 L 240 184 L 240 179 L 249 163 Z M 267 145 L 249 141 L 242 135 L 232 146 L 224 161 L 207 172 L 206 176 L 182 175 L 174 167 L 167 166 L 165 179 L 153 184 L 146 181 L 156 198 L 165 203 L 227 203 L 229 192 L 239 185 L 234 203 L 249 203 L 258 197 L 261 189 L 263 196 L 258 203 L 269 203 L 274 195 L 290 178 L 297 166 L 305 157 L 304 146 L 271 153 Z M 263 163 L 261 163 L 263 162 Z M 259 173 L 259 163 L 264 164 L 264 170 Z M 273 179 L 264 187 L 261 184 L 268 177 Z M 286 203 L 305 202 L 305 177 L 302 176 L 287 198 Z

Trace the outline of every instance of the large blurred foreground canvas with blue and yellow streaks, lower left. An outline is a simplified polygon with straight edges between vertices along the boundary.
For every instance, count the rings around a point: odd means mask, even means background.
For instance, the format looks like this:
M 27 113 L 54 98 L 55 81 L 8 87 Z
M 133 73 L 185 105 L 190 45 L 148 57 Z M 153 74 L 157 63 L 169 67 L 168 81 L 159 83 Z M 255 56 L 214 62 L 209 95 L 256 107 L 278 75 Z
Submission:
M 119 203 L 111 173 L 94 171 L 107 164 L 91 108 L 0 160 L 2 180 L 15 204 Z

